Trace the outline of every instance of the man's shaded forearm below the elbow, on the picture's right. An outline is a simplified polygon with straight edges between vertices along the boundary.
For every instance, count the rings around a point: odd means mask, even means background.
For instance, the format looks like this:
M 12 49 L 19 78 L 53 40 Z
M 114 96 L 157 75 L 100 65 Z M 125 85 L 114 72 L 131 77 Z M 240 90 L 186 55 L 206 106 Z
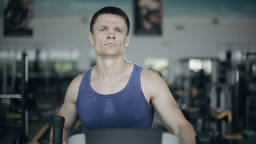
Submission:
M 195 131 L 190 123 L 182 125 L 179 128 L 178 136 L 181 140 L 181 144 L 196 144 Z

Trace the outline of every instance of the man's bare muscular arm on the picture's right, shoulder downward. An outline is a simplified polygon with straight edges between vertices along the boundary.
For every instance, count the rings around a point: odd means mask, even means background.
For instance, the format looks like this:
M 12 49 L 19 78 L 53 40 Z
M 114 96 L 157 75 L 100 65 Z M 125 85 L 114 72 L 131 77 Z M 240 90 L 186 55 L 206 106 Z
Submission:
M 195 144 L 195 131 L 186 120 L 165 81 L 155 72 L 143 70 L 141 85 L 163 125 L 178 136 L 181 144 Z

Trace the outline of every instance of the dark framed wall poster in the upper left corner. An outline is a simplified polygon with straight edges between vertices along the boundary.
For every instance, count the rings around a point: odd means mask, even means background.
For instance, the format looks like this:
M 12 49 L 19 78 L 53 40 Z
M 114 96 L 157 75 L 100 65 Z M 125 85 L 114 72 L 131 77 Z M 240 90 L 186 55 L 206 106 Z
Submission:
M 33 0 L 4 0 L 4 37 L 32 36 Z

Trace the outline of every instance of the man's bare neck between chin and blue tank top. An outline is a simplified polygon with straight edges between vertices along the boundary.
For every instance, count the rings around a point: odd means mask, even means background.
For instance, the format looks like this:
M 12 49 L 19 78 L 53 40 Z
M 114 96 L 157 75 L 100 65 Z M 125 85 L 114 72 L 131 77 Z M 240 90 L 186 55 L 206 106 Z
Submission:
M 123 55 L 113 58 L 96 56 L 96 62 L 96 74 L 100 81 L 111 82 L 125 74 L 127 61 Z

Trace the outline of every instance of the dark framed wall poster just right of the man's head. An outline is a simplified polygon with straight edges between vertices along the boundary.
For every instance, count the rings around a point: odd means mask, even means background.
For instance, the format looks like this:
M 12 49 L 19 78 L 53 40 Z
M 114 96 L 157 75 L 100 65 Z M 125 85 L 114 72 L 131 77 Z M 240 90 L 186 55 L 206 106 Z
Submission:
M 163 0 L 134 0 L 135 35 L 161 35 Z

